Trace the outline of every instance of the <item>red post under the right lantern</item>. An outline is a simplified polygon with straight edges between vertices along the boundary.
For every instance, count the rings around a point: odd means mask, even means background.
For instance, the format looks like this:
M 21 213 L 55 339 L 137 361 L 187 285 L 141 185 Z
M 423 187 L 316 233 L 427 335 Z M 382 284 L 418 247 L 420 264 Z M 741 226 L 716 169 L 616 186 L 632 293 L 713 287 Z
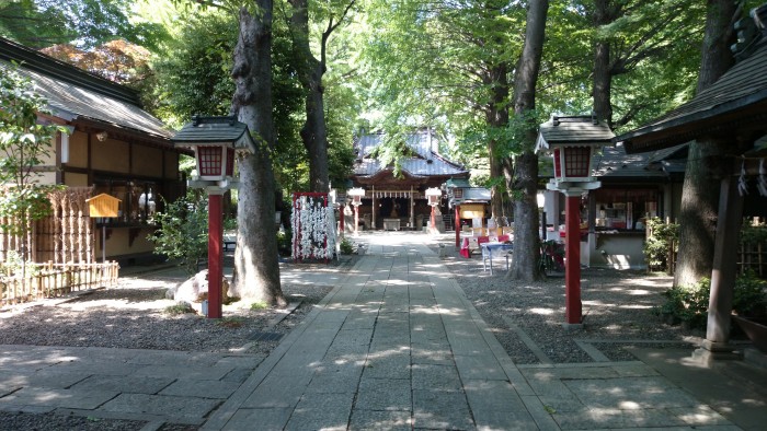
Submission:
M 564 218 L 564 318 L 581 324 L 581 196 L 568 196 Z

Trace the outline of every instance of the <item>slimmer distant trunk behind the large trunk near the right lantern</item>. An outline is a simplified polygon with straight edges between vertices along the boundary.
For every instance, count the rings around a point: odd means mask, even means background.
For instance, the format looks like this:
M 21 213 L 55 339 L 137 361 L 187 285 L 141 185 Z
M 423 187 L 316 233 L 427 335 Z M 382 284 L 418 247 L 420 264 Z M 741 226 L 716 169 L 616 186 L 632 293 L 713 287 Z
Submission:
M 486 123 L 491 129 L 505 128 L 508 126 L 508 66 L 506 63 L 490 67 L 485 84 L 491 86 L 491 98 L 486 107 Z M 488 156 L 490 158 L 490 177 L 493 180 L 503 178 L 503 158 L 499 145 L 499 138 L 493 137 L 488 142 Z M 503 208 L 504 187 L 495 183 L 492 188 L 493 195 L 490 208 L 493 219 L 501 220 L 506 213 Z

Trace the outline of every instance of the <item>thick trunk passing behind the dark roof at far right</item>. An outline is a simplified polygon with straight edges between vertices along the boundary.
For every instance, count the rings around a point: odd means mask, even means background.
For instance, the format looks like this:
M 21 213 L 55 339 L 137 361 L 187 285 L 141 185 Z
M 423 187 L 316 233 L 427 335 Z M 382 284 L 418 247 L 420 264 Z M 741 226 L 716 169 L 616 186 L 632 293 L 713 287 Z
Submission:
M 709 0 L 698 92 L 714 83 L 733 65 L 730 45 L 736 13 L 732 0 Z M 679 212 L 679 253 L 675 286 L 711 277 L 721 177 L 717 174 L 724 148 L 732 142 L 701 138 L 690 143 Z

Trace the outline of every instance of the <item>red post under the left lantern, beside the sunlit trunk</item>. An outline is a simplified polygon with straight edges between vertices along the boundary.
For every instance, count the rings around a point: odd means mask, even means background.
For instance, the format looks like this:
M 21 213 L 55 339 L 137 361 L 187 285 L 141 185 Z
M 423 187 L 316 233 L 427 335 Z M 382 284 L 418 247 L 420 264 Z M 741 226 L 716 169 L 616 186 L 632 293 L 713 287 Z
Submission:
M 221 318 L 224 208 L 221 195 L 208 195 L 208 318 Z

